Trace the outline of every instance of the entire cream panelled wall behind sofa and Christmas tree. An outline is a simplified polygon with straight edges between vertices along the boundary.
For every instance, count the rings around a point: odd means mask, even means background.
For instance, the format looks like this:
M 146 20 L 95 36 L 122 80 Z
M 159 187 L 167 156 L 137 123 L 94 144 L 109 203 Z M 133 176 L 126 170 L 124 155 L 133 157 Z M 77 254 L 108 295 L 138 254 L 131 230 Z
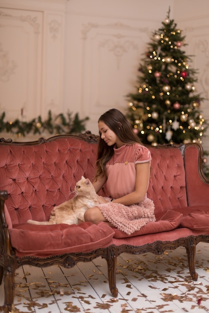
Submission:
M 125 94 L 135 91 L 146 44 L 169 6 L 186 35 L 186 53 L 195 55 L 197 90 L 209 98 L 207 0 L 0 0 L 0 52 L 14 67 L 6 66 L 7 77 L 0 72 L 0 110 L 11 119 L 22 107 L 26 119 L 44 118 L 49 109 L 79 112 L 97 133 L 101 113 L 126 110 Z M 201 108 L 209 120 L 208 100 Z M 209 149 L 208 137 L 203 147 Z

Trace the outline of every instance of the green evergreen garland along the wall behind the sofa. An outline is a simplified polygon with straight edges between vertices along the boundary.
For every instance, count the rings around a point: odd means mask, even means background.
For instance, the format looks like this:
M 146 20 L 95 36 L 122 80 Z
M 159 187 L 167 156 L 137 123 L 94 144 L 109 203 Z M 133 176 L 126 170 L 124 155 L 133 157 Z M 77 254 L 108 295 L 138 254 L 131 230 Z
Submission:
M 5 121 L 5 116 L 5 112 L 0 116 L 0 132 L 10 132 L 19 136 L 25 136 L 28 133 L 41 134 L 46 130 L 50 134 L 81 133 L 86 130 L 85 121 L 89 119 L 89 117 L 80 119 L 78 113 L 73 117 L 72 113 L 69 112 L 67 117 L 60 113 L 55 118 L 52 118 L 51 110 L 49 110 L 46 120 L 42 120 L 42 117 L 39 115 L 29 122 L 20 119 Z

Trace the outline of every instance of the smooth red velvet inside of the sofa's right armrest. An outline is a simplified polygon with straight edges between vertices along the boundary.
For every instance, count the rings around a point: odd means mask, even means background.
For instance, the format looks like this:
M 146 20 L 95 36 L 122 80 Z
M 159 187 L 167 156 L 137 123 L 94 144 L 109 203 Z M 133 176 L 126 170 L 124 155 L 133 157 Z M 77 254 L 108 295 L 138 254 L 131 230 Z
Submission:
M 209 180 L 203 174 L 203 149 L 198 143 L 188 143 L 184 150 L 184 166 L 188 205 L 208 204 Z

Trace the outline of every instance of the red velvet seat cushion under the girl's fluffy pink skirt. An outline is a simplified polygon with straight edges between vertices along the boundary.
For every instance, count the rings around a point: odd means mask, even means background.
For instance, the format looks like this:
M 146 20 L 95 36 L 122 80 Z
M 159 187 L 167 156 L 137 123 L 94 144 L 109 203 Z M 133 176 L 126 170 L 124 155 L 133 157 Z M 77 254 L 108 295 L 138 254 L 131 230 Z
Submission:
M 148 222 L 146 225 L 141 227 L 141 229 L 134 231 L 130 235 L 114 227 L 114 238 L 132 237 L 141 234 L 168 231 L 179 226 L 182 216 L 182 213 L 174 210 L 167 210 L 166 212 L 155 214 L 156 221 Z

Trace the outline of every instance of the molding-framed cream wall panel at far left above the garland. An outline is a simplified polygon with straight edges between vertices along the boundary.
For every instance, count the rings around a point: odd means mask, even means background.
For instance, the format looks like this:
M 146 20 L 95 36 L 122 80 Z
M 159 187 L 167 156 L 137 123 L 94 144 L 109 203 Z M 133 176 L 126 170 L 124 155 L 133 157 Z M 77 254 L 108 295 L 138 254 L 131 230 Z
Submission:
M 0 108 L 30 118 L 41 105 L 43 13 L 0 8 L 0 17 Z

